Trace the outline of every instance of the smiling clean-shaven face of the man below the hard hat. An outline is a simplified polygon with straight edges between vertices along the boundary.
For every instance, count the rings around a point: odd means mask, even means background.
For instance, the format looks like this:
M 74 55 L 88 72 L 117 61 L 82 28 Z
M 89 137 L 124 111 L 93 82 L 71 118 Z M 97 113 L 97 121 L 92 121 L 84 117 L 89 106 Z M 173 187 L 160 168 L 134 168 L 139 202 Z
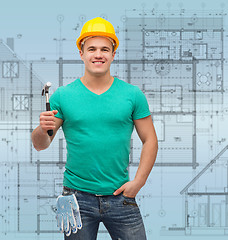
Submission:
M 103 76 L 110 72 L 115 52 L 113 52 L 112 43 L 107 38 L 89 38 L 79 53 L 85 64 L 85 72 L 92 76 Z

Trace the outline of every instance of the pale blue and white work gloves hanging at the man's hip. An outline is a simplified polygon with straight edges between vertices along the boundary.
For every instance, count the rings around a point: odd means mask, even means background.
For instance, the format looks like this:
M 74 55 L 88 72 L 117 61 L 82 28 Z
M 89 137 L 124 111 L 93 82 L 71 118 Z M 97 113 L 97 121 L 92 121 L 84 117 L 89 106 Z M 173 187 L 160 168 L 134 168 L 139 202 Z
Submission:
M 60 195 L 57 198 L 57 225 L 61 232 L 65 232 L 66 236 L 76 233 L 82 228 L 82 221 L 79 212 L 78 201 L 74 194 Z

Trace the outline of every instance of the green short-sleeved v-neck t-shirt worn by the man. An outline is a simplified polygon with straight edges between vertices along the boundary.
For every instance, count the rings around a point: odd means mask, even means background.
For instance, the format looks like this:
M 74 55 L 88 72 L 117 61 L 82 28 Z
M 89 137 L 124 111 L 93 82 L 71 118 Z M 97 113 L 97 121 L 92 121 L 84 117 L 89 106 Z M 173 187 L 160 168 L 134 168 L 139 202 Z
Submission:
M 67 143 L 64 186 L 112 195 L 129 181 L 133 120 L 150 115 L 146 97 L 137 86 L 114 78 L 112 86 L 97 95 L 77 79 L 59 87 L 50 105 L 63 120 Z

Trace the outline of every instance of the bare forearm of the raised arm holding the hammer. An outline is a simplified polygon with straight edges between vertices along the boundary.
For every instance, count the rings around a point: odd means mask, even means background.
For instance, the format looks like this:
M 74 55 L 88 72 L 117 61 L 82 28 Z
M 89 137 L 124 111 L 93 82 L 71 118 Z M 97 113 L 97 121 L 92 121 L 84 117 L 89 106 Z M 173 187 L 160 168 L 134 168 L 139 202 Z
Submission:
M 44 150 L 49 147 L 51 138 L 47 133 L 43 132 L 41 126 L 38 126 L 32 132 L 32 143 L 37 151 Z

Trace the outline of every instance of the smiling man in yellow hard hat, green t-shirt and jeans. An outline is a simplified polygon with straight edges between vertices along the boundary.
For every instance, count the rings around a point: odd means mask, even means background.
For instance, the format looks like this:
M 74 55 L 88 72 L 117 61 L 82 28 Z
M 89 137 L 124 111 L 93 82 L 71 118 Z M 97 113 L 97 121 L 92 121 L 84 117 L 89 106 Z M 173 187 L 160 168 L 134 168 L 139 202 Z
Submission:
M 40 114 L 32 133 L 39 151 L 50 145 L 61 126 L 64 131 L 67 162 L 57 221 L 67 240 L 95 240 L 100 222 L 112 239 L 146 239 L 135 197 L 154 165 L 157 137 L 142 91 L 110 74 L 118 45 L 111 23 L 102 18 L 85 23 L 77 40 L 84 75 L 57 89 L 50 98 L 52 111 Z M 134 126 L 143 146 L 130 181 Z

